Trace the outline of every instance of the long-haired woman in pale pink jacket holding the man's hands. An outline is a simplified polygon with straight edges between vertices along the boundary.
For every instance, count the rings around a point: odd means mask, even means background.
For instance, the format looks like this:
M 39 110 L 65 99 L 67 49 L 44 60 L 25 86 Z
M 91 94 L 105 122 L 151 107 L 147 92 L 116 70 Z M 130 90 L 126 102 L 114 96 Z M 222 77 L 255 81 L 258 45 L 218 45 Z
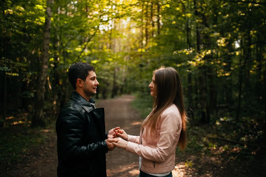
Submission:
M 176 146 L 186 147 L 186 112 L 180 77 L 174 68 L 153 71 L 149 85 L 153 111 L 144 120 L 140 136 L 127 135 L 124 130 L 113 134 L 113 145 L 140 156 L 139 177 L 172 177 Z

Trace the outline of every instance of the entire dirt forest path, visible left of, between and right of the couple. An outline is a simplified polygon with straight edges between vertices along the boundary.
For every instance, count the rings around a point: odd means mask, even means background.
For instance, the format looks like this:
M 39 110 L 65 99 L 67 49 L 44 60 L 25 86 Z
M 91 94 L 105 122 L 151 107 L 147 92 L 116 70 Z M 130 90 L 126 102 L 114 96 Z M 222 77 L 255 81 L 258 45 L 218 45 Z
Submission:
M 99 100 L 95 106 L 105 109 L 106 131 L 114 127 L 121 127 L 129 135 L 139 135 L 143 117 L 140 118 L 137 110 L 130 106 L 134 96 L 123 95 L 115 99 Z M 47 134 L 47 141 L 40 147 L 33 149 L 25 156 L 21 163 L 11 165 L 1 176 L 12 177 L 56 177 L 57 151 L 56 132 L 43 130 Z M 115 148 L 106 154 L 106 171 L 108 177 L 136 177 L 139 174 L 139 157 L 125 150 Z M 172 171 L 173 176 L 179 177 L 184 173 L 184 163 L 179 163 L 178 168 Z

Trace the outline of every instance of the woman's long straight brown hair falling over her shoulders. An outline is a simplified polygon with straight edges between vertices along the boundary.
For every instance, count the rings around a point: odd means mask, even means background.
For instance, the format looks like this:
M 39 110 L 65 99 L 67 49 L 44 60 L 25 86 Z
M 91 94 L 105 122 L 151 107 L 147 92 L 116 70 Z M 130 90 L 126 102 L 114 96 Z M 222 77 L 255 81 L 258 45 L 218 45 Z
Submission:
M 182 119 L 182 130 L 178 145 L 181 150 L 186 147 L 186 123 L 187 116 L 184 107 L 183 91 L 178 72 L 172 68 L 164 66 L 153 71 L 155 75 L 155 90 L 153 95 L 153 113 L 143 122 L 141 130 L 146 127 L 150 134 L 157 133 L 160 115 L 171 104 L 178 108 Z

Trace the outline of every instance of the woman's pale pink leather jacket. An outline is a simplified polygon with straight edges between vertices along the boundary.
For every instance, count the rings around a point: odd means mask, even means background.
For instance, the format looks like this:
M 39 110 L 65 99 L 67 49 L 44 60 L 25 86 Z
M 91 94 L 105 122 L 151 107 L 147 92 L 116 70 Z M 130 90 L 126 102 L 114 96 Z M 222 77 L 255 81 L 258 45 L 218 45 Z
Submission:
M 126 151 L 142 157 L 141 171 L 146 173 L 172 171 L 175 168 L 176 145 L 181 129 L 181 115 L 176 105 L 171 104 L 161 114 L 157 134 L 150 135 L 149 131 L 146 133 L 144 127 L 143 132 L 140 131 L 140 136 L 128 135 Z

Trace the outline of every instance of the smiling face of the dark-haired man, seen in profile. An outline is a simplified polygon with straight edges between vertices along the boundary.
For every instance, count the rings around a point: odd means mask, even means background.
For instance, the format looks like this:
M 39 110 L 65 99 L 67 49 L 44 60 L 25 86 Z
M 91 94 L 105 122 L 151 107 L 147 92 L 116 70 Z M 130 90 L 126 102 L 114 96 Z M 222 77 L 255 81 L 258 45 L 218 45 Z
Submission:
M 94 71 L 89 71 L 89 75 L 84 81 L 83 91 L 88 96 L 91 97 L 96 94 L 96 88 L 99 82 L 96 79 L 96 74 Z

